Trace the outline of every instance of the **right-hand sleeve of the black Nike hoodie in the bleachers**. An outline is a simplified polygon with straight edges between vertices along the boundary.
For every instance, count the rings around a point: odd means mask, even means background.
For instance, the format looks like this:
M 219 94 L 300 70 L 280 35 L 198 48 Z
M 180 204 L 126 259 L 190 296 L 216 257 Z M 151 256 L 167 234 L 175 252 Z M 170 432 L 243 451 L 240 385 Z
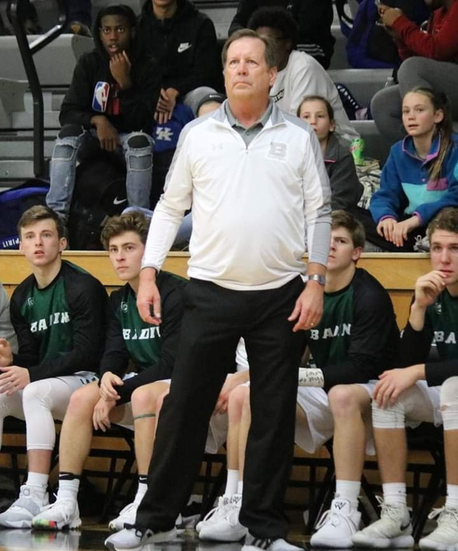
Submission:
M 181 96 L 200 86 L 219 88 L 218 79 L 223 68 L 219 59 L 216 32 L 212 20 L 206 16 L 203 17 L 196 36 L 197 44 L 193 66 L 186 71 L 186 74 L 174 75 L 164 82 L 164 88 L 175 88 Z M 189 21 L 190 25 L 198 23 L 198 19 Z

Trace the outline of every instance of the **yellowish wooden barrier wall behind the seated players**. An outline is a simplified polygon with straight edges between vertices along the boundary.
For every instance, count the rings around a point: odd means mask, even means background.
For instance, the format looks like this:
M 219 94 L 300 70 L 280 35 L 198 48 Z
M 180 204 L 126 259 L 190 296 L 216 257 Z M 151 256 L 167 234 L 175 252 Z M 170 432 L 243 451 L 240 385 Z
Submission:
M 121 282 L 111 268 L 107 256 L 106 252 L 101 251 L 63 253 L 63 258 L 82 266 L 111 290 Z M 188 258 L 187 252 L 171 252 L 164 269 L 186 276 Z M 430 269 L 429 256 L 426 253 L 363 253 L 358 266 L 367 269 L 389 291 L 398 326 L 404 327 L 416 279 Z M 19 251 L 0 252 L 0 281 L 8 294 L 29 274 L 29 264 Z

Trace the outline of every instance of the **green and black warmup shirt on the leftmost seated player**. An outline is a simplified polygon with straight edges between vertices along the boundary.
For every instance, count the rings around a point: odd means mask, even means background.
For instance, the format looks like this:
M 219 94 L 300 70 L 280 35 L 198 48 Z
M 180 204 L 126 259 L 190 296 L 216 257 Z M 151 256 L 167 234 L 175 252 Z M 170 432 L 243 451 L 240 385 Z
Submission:
M 97 371 L 105 337 L 106 291 L 98 279 L 62 261 L 39 289 L 31 274 L 14 290 L 10 316 L 19 350 L 13 363 L 30 381 Z

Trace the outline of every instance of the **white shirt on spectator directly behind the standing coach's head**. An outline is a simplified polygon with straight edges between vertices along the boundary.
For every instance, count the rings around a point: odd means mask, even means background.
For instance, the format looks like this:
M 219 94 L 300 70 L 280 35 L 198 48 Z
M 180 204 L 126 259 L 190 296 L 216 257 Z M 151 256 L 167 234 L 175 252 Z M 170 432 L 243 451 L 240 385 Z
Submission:
M 282 111 L 295 115 L 305 96 L 319 95 L 330 102 L 334 110 L 337 133 L 352 141 L 359 134 L 349 121 L 335 84 L 315 58 L 293 50 L 287 66 L 278 71 L 270 96 Z

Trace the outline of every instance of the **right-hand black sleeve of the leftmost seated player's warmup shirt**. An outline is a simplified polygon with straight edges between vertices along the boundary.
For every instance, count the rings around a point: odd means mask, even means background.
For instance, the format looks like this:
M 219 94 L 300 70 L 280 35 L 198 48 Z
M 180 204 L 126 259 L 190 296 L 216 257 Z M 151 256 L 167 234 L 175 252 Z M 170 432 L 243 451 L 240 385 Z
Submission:
M 99 369 L 105 338 L 105 288 L 89 274 L 79 274 L 78 280 L 67 280 L 66 298 L 73 325 L 73 349 L 31 366 L 30 381 Z

